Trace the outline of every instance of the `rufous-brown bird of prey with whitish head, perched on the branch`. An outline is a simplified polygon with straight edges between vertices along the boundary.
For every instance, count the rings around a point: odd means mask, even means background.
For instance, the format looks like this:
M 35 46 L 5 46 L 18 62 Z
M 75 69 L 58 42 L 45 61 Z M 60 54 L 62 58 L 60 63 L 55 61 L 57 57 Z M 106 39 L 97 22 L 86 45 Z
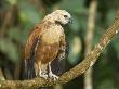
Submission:
M 67 42 L 62 25 L 70 20 L 67 11 L 56 10 L 35 26 L 25 46 L 24 79 L 58 78 L 67 55 Z

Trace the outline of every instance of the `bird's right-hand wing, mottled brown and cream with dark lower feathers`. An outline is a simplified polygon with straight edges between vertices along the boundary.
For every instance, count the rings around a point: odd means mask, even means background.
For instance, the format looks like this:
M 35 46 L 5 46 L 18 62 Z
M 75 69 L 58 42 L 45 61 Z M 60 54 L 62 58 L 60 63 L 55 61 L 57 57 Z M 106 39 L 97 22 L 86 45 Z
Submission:
M 62 75 L 65 71 L 65 59 L 68 58 L 68 41 L 65 38 L 65 35 L 61 38 L 60 50 L 55 60 L 51 63 L 51 69 L 56 75 Z

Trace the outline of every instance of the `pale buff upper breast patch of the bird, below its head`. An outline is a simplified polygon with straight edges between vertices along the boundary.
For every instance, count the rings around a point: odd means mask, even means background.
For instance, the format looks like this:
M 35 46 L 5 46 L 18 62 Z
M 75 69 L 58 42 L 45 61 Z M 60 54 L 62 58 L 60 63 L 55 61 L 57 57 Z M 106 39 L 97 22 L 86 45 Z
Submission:
M 47 43 L 58 43 L 64 35 L 64 29 L 58 24 L 50 24 L 42 34 L 42 40 Z

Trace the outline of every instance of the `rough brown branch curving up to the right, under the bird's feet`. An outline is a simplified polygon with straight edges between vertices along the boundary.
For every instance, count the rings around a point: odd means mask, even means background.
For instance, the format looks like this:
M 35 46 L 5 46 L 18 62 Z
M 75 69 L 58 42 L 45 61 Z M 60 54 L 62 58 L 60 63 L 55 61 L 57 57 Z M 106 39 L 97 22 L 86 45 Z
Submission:
M 102 36 L 100 42 L 95 46 L 93 51 L 89 53 L 85 59 L 70 71 L 64 73 L 58 80 L 53 81 L 52 79 L 35 78 L 32 80 L 0 80 L 0 88 L 2 89 L 28 89 L 38 87 L 48 87 L 56 84 L 66 84 L 79 75 L 87 72 L 97 60 L 104 48 L 111 41 L 113 37 L 119 31 L 119 11 L 107 31 Z

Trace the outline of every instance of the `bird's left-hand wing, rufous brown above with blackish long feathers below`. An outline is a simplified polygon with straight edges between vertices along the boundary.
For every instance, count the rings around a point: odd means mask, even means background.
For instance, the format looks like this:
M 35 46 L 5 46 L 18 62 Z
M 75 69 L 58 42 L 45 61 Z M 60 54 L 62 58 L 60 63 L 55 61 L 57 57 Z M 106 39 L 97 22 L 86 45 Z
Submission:
M 24 79 L 30 79 L 35 77 L 35 52 L 38 43 L 40 42 L 40 26 L 36 26 L 34 31 L 29 35 L 29 38 L 25 46 L 25 60 L 24 60 Z

